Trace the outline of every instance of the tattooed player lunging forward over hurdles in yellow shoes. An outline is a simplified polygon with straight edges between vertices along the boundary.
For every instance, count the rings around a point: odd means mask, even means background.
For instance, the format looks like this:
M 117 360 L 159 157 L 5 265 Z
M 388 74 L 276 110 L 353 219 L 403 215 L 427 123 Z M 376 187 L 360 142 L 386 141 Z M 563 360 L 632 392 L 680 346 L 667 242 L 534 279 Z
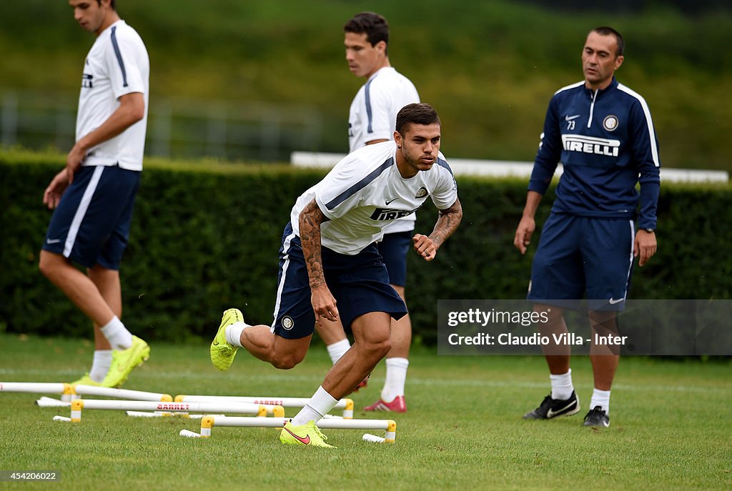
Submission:
M 351 348 L 285 424 L 282 443 L 329 446 L 318 421 L 389 353 L 391 320 L 402 318 L 406 305 L 389 285 L 376 245 L 386 225 L 414 213 L 429 197 L 439 210 L 435 227 L 412 238 L 425 261 L 433 261 L 458 228 L 463 210 L 452 170 L 439 152 L 440 132 L 430 105 L 402 108 L 395 141 L 348 154 L 297 199 L 280 248 L 272 326 L 250 326 L 236 309 L 224 312 L 210 349 L 219 370 L 228 370 L 242 347 L 277 368 L 292 368 L 305 358 L 321 319 L 340 319 L 354 333 Z

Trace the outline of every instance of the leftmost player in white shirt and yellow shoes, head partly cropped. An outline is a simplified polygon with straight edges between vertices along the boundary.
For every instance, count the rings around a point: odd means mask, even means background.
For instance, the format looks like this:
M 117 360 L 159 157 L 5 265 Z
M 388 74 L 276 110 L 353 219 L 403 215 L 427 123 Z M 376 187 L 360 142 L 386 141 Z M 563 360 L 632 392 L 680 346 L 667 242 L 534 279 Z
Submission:
M 143 41 L 119 18 L 114 0 L 69 4 L 97 40 L 83 64 L 76 143 L 43 193 L 55 211 L 39 267 L 94 323 L 91 370 L 73 384 L 115 387 L 150 352 L 120 320 L 119 282 L 142 170 L 150 67 Z

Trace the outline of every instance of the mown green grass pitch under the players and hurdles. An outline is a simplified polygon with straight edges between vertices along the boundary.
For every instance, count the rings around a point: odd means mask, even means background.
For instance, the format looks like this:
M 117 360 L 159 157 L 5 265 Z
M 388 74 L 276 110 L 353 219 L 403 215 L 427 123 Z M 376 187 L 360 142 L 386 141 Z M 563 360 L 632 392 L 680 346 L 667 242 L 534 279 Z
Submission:
M 91 361 L 86 340 L 0 334 L 1 381 L 70 381 Z M 126 389 L 172 394 L 309 397 L 329 367 L 323 348 L 289 372 L 239 353 L 229 372 L 206 345 L 153 345 Z M 408 374 L 408 407 L 397 441 L 361 441 L 330 430 L 337 449 L 285 447 L 277 432 L 215 428 L 181 438 L 195 421 L 135 419 L 85 411 L 81 424 L 52 421 L 66 409 L 37 408 L 34 394 L 0 394 L 0 470 L 61 471 L 61 482 L 23 489 L 74 490 L 493 490 L 731 489 L 732 365 L 729 361 L 627 358 L 613 387 L 611 425 L 581 426 L 591 394 L 587 359 L 573 378 L 583 410 L 556 421 L 523 421 L 548 391 L 539 357 L 448 357 L 420 348 Z M 381 364 L 356 408 L 378 397 Z M 289 410 L 293 411 L 293 410 Z M 288 416 L 294 413 L 288 412 Z M 356 418 L 370 417 L 356 411 Z M 18 489 L 0 483 L 0 489 Z

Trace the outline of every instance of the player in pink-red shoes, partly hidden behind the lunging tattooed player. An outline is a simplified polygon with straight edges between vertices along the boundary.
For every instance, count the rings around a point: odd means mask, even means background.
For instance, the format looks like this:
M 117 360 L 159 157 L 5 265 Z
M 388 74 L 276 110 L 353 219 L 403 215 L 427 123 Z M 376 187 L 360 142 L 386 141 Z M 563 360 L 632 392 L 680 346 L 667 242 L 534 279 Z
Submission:
M 407 104 L 419 102 L 414 84 L 397 72 L 389 63 L 389 24 L 381 15 L 362 12 L 348 20 L 346 33 L 346 61 L 348 69 L 356 77 L 366 78 L 348 114 L 349 151 L 365 145 L 391 140 L 397 112 Z M 400 218 L 384 228 L 384 239 L 378 243 L 378 251 L 384 258 L 389 284 L 405 300 L 407 258 L 411 246 L 416 214 Z M 326 343 L 328 354 L 335 364 L 351 344 L 340 320 L 322 319 L 315 326 L 318 335 Z M 398 321 L 392 320 L 392 349 L 386 355 L 386 381 L 381 397 L 365 411 L 395 411 L 405 413 L 404 385 L 409 365 L 411 345 L 411 321 L 409 314 Z M 366 385 L 366 379 L 356 390 Z

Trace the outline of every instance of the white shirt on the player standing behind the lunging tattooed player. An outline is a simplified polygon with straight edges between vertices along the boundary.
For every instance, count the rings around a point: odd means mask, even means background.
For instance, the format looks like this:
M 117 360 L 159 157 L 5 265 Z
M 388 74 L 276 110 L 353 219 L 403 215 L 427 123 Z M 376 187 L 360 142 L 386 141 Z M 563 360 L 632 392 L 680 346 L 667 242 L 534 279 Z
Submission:
M 348 113 L 348 147 L 354 151 L 373 140 L 393 140 L 397 113 L 404 106 L 419 102 L 414 83 L 393 67 L 371 75 L 359 89 Z M 384 233 L 414 230 L 416 215 L 392 222 Z

